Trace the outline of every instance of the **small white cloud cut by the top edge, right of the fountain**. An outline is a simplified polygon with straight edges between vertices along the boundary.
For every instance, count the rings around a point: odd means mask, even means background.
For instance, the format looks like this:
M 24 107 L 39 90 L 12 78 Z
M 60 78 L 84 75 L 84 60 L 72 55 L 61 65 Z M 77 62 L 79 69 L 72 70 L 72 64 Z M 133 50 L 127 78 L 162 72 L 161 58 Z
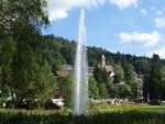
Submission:
M 130 5 L 138 5 L 139 0 L 110 0 L 110 3 L 118 5 L 119 9 L 125 9 Z

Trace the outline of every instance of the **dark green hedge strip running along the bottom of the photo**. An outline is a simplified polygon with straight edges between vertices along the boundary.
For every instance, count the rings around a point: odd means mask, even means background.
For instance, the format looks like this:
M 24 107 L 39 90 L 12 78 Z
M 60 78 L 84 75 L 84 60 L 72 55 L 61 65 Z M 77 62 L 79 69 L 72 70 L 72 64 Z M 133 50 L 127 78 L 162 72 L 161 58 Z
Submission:
M 164 124 L 165 114 L 147 112 L 96 113 L 89 116 L 72 114 L 34 114 L 0 112 L 1 124 Z

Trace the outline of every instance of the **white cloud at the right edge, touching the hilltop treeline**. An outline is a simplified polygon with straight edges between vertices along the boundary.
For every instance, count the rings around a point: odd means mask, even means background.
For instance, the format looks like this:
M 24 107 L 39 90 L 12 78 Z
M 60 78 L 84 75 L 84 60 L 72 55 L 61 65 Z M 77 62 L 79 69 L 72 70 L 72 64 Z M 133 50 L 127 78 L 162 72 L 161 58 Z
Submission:
M 152 57 L 153 54 L 157 54 L 157 55 L 161 56 L 161 58 L 165 58 L 165 46 L 163 46 L 163 47 L 161 47 L 161 48 L 158 48 L 158 49 L 156 49 L 156 50 L 154 50 L 154 52 L 151 52 L 151 53 L 148 53 L 147 55 L 148 55 L 150 57 Z

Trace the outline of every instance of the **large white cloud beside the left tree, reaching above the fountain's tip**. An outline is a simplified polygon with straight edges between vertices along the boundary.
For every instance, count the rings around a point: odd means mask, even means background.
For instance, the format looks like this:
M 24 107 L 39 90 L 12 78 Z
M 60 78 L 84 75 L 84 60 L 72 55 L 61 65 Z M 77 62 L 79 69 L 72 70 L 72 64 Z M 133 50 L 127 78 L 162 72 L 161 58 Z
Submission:
M 73 8 L 97 7 L 106 0 L 48 0 L 50 20 L 57 20 L 68 16 L 68 10 Z

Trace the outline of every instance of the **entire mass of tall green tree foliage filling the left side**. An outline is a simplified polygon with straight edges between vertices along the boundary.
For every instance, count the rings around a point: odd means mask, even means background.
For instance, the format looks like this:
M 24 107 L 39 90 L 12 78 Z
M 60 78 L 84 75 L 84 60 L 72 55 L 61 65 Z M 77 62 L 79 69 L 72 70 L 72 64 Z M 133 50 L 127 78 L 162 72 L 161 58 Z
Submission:
M 41 27 L 47 24 L 45 0 L 0 1 L 0 87 L 19 99 L 52 97 L 53 74 L 42 58 Z M 44 60 L 43 60 L 44 59 Z

